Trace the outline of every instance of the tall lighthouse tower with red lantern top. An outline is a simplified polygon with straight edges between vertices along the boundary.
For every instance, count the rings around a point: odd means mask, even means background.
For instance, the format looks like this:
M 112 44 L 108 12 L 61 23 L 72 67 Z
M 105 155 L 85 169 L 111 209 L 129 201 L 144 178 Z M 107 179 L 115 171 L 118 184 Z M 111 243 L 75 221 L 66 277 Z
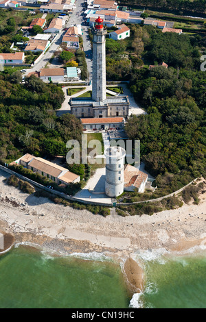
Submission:
M 103 19 L 99 17 L 93 29 L 92 99 L 96 102 L 106 99 L 105 36 L 106 28 L 103 27 Z

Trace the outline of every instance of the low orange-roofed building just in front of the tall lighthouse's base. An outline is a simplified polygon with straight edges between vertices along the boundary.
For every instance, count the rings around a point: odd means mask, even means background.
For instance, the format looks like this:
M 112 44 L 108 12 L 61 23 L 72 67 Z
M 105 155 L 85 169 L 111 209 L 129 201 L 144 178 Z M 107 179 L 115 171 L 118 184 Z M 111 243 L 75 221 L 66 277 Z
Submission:
M 96 129 L 124 129 L 124 117 L 103 117 L 93 119 L 80 119 L 83 130 L 94 131 Z

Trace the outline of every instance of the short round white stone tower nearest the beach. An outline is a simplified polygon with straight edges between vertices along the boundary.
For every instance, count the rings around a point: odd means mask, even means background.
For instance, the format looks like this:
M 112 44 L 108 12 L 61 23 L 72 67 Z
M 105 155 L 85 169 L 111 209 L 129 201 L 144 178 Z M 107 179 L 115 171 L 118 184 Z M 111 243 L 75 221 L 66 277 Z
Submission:
M 122 147 L 107 147 L 105 193 L 114 198 L 124 192 L 124 157 L 126 151 Z

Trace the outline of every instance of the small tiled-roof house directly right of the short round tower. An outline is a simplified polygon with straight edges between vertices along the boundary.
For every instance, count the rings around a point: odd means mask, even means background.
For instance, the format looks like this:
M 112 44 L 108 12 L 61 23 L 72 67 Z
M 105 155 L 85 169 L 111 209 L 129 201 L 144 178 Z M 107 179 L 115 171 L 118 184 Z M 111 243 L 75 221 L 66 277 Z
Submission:
M 131 166 L 130 164 L 124 165 L 124 190 L 134 191 L 138 193 L 144 193 L 146 183 L 148 182 L 148 174 L 140 171 Z

